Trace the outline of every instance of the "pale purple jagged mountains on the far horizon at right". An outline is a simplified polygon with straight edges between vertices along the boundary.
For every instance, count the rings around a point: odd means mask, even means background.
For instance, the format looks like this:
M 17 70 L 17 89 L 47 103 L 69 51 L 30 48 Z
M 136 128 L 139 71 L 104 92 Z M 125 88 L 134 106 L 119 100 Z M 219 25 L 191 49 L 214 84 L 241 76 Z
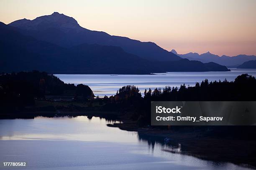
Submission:
M 172 50 L 172 52 L 176 52 L 175 50 Z M 177 54 L 177 52 L 176 52 Z M 243 62 L 249 61 L 249 60 L 256 60 L 255 55 L 236 55 L 236 56 L 227 56 L 227 55 L 222 55 L 218 56 L 215 54 L 210 53 L 209 51 L 203 54 L 198 54 L 196 52 L 189 52 L 187 54 L 177 54 L 182 58 L 187 58 L 189 60 L 197 60 L 201 62 L 215 62 L 220 65 L 225 65 L 225 66 L 238 66 L 241 65 Z

